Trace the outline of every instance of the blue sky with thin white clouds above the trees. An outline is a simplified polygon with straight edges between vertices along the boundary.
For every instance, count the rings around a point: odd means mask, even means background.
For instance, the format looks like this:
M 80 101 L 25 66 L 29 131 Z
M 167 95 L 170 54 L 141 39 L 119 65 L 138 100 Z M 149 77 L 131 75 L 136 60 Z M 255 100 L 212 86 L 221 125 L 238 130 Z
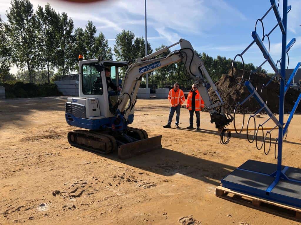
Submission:
M 277 1 L 277 0 L 276 0 Z M 281 0 L 280 0 L 281 1 Z M 31 0 L 34 8 L 44 6 L 46 0 Z M 123 29 L 131 30 L 136 36 L 144 37 L 144 0 L 107 0 L 95 3 L 76 4 L 67 1 L 51 0 L 51 7 L 56 11 L 66 12 L 75 27 L 85 28 L 88 19 L 102 31 L 113 49 L 116 34 Z M 292 10 L 288 14 L 287 43 L 296 38 L 290 49 L 290 65 L 294 68 L 301 61 L 301 4 L 300 0 L 288 0 Z M 269 0 L 147 0 L 147 37 L 153 49 L 161 44 L 170 45 L 184 38 L 191 42 L 198 52 L 206 52 L 212 57 L 217 55 L 234 58 L 253 41 L 251 32 L 255 22 L 271 6 Z M 6 20 L 6 10 L 10 1 L 0 0 L 0 14 Z M 282 2 L 279 11 L 282 15 Z M 263 19 L 265 34 L 277 23 L 271 10 Z M 257 32 L 262 36 L 261 25 Z M 266 47 L 268 42 L 264 43 Z M 178 48 L 178 47 L 175 47 Z M 281 58 L 281 32 L 276 28 L 270 35 L 270 54 L 276 62 Z M 264 58 L 256 44 L 245 54 L 244 61 L 259 66 Z M 263 66 L 268 72 L 271 67 Z M 11 68 L 15 73 L 16 67 Z

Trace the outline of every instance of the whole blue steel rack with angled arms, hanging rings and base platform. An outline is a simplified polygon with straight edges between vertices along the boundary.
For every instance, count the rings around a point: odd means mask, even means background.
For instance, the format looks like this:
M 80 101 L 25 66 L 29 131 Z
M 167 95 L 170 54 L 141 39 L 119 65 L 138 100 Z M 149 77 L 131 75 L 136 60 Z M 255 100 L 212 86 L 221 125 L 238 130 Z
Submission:
M 245 86 L 247 86 L 248 90 L 250 91 L 250 95 L 241 103 L 238 103 L 237 105 L 242 105 L 244 102 L 247 101 L 247 99 L 253 97 L 256 99 L 256 101 L 260 105 L 260 110 L 257 112 L 259 113 L 261 110 L 265 110 L 265 112 L 268 114 L 269 119 L 272 119 L 272 121 L 275 123 L 275 128 L 278 127 L 278 138 L 276 139 L 275 143 L 275 158 L 277 159 L 277 164 L 271 164 L 271 163 L 265 163 L 265 162 L 259 162 L 254 160 L 248 160 L 244 164 L 242 164 L 240 167 L 238 167 L 236 170 L 234 170 L 232 173 L 230 173 L 228 176 L 226 176 L 224 179 L 222 179 L 222 185 L 223 187 L 229 188 L 231 190 L 236 190 L 242 193 L 247 193 L 256 197 L 273 200 L 276 202 L 293 205 L 296 207 L 301 207 L 301 169 L 299 168 L 293 168 L 288 166 L 282 165 L 282 145 L 283 145 L 283 138 L 284 134 L 287 132 L 287 128 L 290 125 L 290 122 L 293 118 L 293 115 L 296 111 L 296 108 L 299 105 L 299 102 L 301 100 L 301 94 L 299 95 L 298 99 L 296 100 L 294 107 L 290 113 L 290 116 L 286 123 L 284 123 L 284 96 L 290 87 L 290 83 L 293 80 L 293 77 L 295 76 L 297 70 L 300 67 L 300 62 L 297 64 L 295 70 L 290 75 L 290 78 L 287 81 L 287 84 L 285 83 L 285 65 L 286 65 L 286 55 L 288 56 L 288 51 L 293 46 L 293 44 L 296 42 L 296 39 L 293 38 L 288 44 L 287 44 L 287 13 L 291 10 L 291 6 L 287 6 L 287 0 L 283 1 L 283 18 L 281 19 L 280 13 L 278 11 L 279 1 L 278 5 L 276 4 L 275 0 L 270 0 L 271 7 L 269 10 L 265 13 L 264 16 L 262 16 L 261 19 L 258 19 L 257 22 L 261 22 L 262 29 L 263 29 L 263 35 L 262 39 L 259 38 L 257 32 L 256 32 L 256 25 L 255 25 L 255 31 L 252 32 L 253 41 L 247 48 L 240 54 L 237 54 L 234 57 L 233 64 L 235 61 L 235 58 L 239 56 L 244 64 L 244 60 L 242 58 L 242 55 L 254 44 L 256 43 L 259 47 L 259 49 L 262 51 L 263 57 L 265 58 L 265 61 L 259 66 L 262 67 L 265 62 L 268 61 L 268 63 L 271 65 L 273 70 L 275 71 L 275 76 L 278 76 L 280 79 L 280 100 L 279 100 L 279 120 L 274 116 L 274 114 L 271 112 L 271 110 L 266 105 L 265 101 L 262 100 L 261 96 L 257 93 L 256 88 L 253 87 L 250 81 L 246 81 L 244 83 Z M 265 16 L 273 10 L 277 19 L 276 26 L 268 33 L 264 34 L 264 26 L 262 20 L 265 18 Z M 275 28 L 279 26 L 281 33 L 282 33 L 282 51 L 281 51 L 281 59 L 277 61 L 281 61 L 281 69 L 278 70 L 277 64 L 275 64 L 275 61 L 273 61 L 271 55 L 269 54 L 270 50 L 270 40 L 269 35 L 275 30 Z M 263 41 L 264 38 L 268 38 L 268 50 L 265 48 Z M 232 64 L 232 73 L 233 73 L 233 64 Z M 251 74 L 256 71 L 252 71 Z M 250 76 L 251 76 L 250 74 Z M 233 75 L 234 76 L 234 75 Z M 241 84 L 244 79 L 244 73 L 241 78 L 240 82 L 236 82 L 237 84 Z M 273 79 L 273 78 L 272 78 Z M 270 82 L 268 82 L 267 86 Z M 253 116 L 250 116 L 249 121 L 251 117 L 254 117 L 257 113 L 255 113 Z M 268 120 L 269 120 L 268 119 Z M 267 121 L 268 121 L 267 120 Z M 255 118 L 254 118 L 255 121 Z M 267 122 L 265 121 L 265 122 Z M 265 123 L 264 122 L 264 123 Z M 263 123 L 263 124 L 264 124 Z M 259 125 L 257 128 L 257 132 L 259 130 L 259 127 L 262 125 Z M 285 125 L 285 126 L 284 126 Z M 274 129 L 274 128 L 273 128 Z M 236 130 L 236 128 L 235 128 Z M 237 132 L 237 131 L 236 131 Z M 263 129 L 262 129 L 263 132 Z M 267 134 L 270 131 L 267 132 Z M 237 132 L 238 133 L 238 132 Z M 257 136 L 257 134 L 256 134 Z M 265 135 L 266 138 L 267 135 Z M 255 137 L 255 133 L 254 133 Z M 253 137 L 253 140 L 254 140 Z M 248 138 L 249 140 L 249 138 Z M 250 141 L 250 140 L 249 140 Z M 252 141 L 253 142 L 253 141 Z M 276 157 L 276 146 L 278 143 L 278 157 Z M 257 147 L 257 140 L 256 140 L 256 147 Z

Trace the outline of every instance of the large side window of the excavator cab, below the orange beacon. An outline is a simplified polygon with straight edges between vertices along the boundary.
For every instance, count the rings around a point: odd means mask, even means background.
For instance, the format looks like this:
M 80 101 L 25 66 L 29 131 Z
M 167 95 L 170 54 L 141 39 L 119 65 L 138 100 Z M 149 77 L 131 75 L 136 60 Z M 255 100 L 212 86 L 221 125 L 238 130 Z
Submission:
M 84 95 L 102 95 L 104 93 L 101 73 L 94 64 L 82 65 L 82 92 Z

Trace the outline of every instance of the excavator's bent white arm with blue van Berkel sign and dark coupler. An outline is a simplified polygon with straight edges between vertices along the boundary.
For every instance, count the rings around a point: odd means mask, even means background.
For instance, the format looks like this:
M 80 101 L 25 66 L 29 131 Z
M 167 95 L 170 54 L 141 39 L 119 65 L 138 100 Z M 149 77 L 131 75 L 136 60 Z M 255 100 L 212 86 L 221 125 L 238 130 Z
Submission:
M 177 44 L 180 44 L 180 50 L 172 51 L 165 57 L 155 58 L 163 52 L 167 52 L 170 47 Z M 180 39 L 177 43 L 159 49 L 143 58 L 138 58 L 135 63 L 129 66 L 126 70 L 123 86 L 115 106 L 117 118 L 122 117 L 124 120 L 127 120 L 130 111 L 136 103 L 138 88 L 142 76 L 145 73 L 149 73 L 179 61 L 184 62 L 187 74 L 194 81 L 194 84 L 198 85 L 198 91 L 210 113 L 211 123 L 215 123 L 216 128 L 218 129 L 222 129 L 226 125 L 229 125 L 229 123 L 232 122 L 233 117 L 230 114 L 227 116 L 225 115 L 224 102 L 205 68 L 203 60 L 195 54 L 190 42 L 184 39 Z M 206 81 L 209 82 L 213 91 L 215 91 L 219 101 L 212 103 L 206 88 Z M 219 108 L 219 112 L 217 112 L 216 108 Z

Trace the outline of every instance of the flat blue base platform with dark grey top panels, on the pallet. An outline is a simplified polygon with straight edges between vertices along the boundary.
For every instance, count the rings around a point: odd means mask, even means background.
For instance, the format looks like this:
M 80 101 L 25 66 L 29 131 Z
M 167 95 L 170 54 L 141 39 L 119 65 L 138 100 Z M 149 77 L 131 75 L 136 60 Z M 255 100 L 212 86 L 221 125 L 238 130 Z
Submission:
M 221 182 L 231 190 L 301 207 L 301 169 L 282 166 L 286 177 L 271 190 L 276 170 L 277 164 L 248 160 Z

